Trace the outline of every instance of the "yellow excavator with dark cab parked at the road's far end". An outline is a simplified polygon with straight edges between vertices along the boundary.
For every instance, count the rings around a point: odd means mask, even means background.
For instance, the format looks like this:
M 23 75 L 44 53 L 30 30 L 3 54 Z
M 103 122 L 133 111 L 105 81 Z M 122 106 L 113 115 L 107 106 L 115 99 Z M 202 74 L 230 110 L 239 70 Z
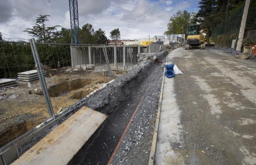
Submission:
M 206 45 L 214 46 L 214 43 L 209 40 L 208 29 L 200 30 L 200 25 L 187 25 L 185 50 L 193 47 L 205 49 Z

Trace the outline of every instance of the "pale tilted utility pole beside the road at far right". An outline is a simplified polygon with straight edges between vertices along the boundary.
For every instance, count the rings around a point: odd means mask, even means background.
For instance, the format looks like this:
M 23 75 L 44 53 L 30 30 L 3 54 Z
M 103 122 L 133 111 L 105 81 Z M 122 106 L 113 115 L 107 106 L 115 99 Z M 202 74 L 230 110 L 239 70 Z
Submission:
M 240 26 L 240 31 L 239 31 L 239 35 L 238 35 L 238 43 L 236 45 L 236 51 L 239 51 L 239 52 L 241 51 L 242 40 L 243 40 L 244 34 L 245 34 L 245 25 L 246 25 L 249 5 L 250 5 L 250 0 L 246 0 L 245 1 L 244 13 L 243 13 L 243 16 L 242 16 L 242 21 L 241 21 L 241 26 Z

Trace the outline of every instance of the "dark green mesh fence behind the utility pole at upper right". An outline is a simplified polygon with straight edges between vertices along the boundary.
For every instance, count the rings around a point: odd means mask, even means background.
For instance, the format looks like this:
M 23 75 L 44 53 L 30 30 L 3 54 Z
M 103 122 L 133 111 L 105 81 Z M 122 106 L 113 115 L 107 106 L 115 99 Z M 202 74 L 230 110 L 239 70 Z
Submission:
M 255 10 L 256 10 L 255 7 L 252 7 L 252 6 L 249 7 L 245 29 L 256 28 Z M 232 14 L 228 19 L 220 23 L 213 30 L 213 35 L 228 34 L 228 33 L 239 30 L 243 11 L 244 11 L 244 5 L 240 7 L 237 11 L 235 11 L 235 13 Z

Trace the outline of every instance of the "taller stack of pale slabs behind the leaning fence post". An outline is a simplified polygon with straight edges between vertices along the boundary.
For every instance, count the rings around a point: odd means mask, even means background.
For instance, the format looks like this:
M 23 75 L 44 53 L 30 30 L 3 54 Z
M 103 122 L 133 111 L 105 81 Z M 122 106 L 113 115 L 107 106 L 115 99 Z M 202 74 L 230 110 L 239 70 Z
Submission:
M 26 72 L 20 72 L 20 73 L 17 73 L 17 75 L 18 75 L 18 78 L 17 78 L 18 82 L 21 84 L 26 84 L 28 82 L 33 82 L 33 81 L 39 80 L 37 70 L 29 70 Z M 48 73 L 44 71 L 43 75 L 44 75 L 44 77 L 47 77 Z

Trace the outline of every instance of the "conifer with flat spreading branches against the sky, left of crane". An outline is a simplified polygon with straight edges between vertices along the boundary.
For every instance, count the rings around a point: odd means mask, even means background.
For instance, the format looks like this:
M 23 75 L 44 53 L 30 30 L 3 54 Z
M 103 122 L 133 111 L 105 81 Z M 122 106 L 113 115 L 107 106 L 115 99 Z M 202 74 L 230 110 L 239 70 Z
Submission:
M 31 34 L 37 39 L 37 42 L 46 43 L 51 41 L 51 37 L 54 32 L 56 32 L 56 27 L 59 25 L 47 27 L 46 21 L 48 21 L 49 15 L 39 15 L 36 19 L 36 23 L 32 28 L 27 28 L 23 32 Z

